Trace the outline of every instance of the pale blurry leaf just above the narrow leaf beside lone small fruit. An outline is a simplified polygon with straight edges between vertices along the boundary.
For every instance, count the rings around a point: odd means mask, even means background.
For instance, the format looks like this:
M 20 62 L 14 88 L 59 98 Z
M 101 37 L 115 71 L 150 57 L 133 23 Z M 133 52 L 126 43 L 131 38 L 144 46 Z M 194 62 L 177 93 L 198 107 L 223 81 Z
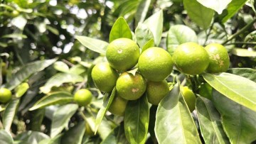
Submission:
M 58 73 L 53 77 L 50 77 L 46 84 L 43 87 L 40 87 L 41 92 L 48 94 L 52 87 L 60 87 L 63 83 L 77 83 L 82 82 L 84 79 L 78 74 L 67 74 L 67 73 Z

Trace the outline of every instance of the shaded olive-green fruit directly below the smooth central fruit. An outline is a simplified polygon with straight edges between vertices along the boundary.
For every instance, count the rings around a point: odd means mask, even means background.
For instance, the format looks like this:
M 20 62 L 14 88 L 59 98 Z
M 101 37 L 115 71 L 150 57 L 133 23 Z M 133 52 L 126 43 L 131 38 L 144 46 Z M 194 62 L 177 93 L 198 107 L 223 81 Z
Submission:
M 166 80 L 160 82 L 146 82 L 146 96 L 150 104 L 158 105 L 161 99 L 169 93 Z

